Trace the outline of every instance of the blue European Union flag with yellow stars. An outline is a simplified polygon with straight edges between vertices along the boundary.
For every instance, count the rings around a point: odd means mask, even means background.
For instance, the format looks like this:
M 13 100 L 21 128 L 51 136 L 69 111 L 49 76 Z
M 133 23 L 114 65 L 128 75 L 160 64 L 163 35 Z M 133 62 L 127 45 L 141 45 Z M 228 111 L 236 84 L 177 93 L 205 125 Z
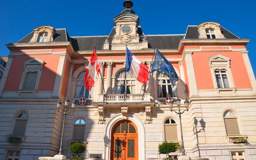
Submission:
M 175 82 L 178 81 L 177 73 L 172 67 L 171 63 L 163 56 L 161 52 L 156 49 L 156 55 L 151 68 L 150 73 L 157 71 L 166 76 L 171 80 L 172 86 L 175 85 Z

